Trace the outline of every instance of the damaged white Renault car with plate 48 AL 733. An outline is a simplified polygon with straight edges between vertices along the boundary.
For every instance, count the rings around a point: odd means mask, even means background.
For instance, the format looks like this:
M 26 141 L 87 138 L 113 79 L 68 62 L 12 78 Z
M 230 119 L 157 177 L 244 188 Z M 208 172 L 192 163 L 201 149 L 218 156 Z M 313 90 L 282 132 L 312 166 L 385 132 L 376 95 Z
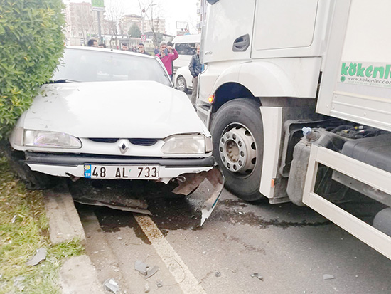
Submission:
M 177 181 L 180 194 L 205 177 L 223 187 L 210 132 L 159 58 L 144 54 L 66 48 L 9 142 L 31 189 L 47 188 L 51 176 Z

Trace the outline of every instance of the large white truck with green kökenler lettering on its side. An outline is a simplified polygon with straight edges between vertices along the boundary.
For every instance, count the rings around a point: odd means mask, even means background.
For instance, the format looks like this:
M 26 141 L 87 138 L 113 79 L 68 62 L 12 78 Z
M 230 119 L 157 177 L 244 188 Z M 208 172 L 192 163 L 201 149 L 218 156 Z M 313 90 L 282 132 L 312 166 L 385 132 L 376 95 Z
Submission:
M 197 112 L 227 189 L 391 258 L 391 1 L 208 3 Z

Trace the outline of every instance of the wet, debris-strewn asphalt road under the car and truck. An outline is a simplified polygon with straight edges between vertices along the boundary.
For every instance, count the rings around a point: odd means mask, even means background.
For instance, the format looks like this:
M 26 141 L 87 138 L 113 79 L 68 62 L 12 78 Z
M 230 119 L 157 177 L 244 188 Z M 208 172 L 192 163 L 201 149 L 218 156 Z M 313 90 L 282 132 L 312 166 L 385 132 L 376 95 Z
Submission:
M 391 293 L 391 261 L 307 207 L 223 191 L 201 228 L 208 188 L 172 199 L 154 184 L 82 181 L 71 193 L 136 194 L 152 213 L 77 205 L 100 281 L 121 293 Z M 136 261 L 159 271 L 146 279 Z

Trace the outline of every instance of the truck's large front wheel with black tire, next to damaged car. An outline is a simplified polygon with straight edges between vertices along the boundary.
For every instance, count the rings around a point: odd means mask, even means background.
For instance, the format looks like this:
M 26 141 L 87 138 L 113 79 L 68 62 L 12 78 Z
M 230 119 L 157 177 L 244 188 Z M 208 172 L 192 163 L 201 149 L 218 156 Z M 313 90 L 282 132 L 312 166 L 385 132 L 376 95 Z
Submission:
M 225 103 L 213 117 L 213 154 L 222 167 L 225 187 L 245 201 L 256 201 L 263 159 L 259 102 L 240 98 Z

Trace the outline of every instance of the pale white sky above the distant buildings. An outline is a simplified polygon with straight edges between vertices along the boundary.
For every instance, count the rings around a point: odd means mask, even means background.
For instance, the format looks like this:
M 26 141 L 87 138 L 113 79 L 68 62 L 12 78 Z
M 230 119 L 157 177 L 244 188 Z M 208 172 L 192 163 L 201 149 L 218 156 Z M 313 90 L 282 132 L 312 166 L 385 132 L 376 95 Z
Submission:
M 124 6 L 125 14 L 140 15 L 140 7 L 138 0 L 106 0 L 105 6 L 112 1 L 118 1 Z M 91 0 L 63 0 L 64 3 L 69 2 L 89 2 Z M 166 31 L 168 34 L 176 36 L 176 21 L 186 21 L 189 23 L 190 33 L 197 33 L 195 27 L 198 22 L 197 3 L 198 0 L 140 0 L 141 6 L 147 8 L 149 4 L 154 5 L 154 18 L 159 14 L 159 17 L 166 19 Z M 146 14 L 151 16 L 151 7 L 146 11 Z

